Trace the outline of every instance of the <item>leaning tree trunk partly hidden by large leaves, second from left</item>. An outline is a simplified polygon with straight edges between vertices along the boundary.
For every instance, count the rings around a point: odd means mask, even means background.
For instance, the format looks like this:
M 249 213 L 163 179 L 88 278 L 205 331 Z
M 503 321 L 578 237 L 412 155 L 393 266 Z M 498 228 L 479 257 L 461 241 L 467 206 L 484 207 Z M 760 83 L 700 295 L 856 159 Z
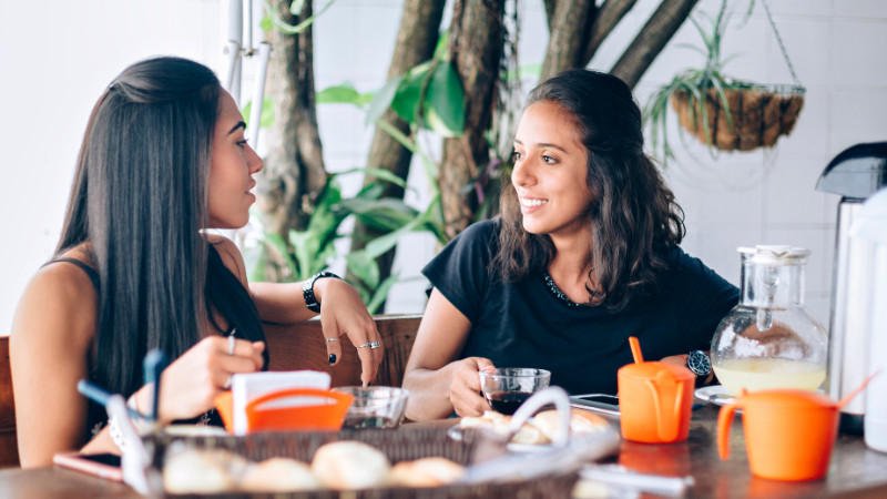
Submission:
M 391 57 L 391 64 L 388 67 L 389 80 L 406 73 L 410 68 L 434 57 L 445 4 L 446 0 L 406 0 L 404 13 L 400 18 L 400 28 L 397 32 L 395 53 Z M 409 124 L 398 118 L 396 112 L 389 109 L 383 114 L 381 119 L 391 123 L 405 135 L 409 135 Z M 373 135 L 373 145 L 367 157 L 367 166 L 388 170 L 406 181 L 411 160 L 412 153 L 409 150 L 400 145 L 387 132 L 376 128 L 376 132 Z M 364 179 L 364 186 L 379 182 L 383 181 L 367 176 Z M 386 182 L 383 196 L 402 198 L 404 189 Z M 383 233 L 367 227 L 360 221 L 355 222 L 354 232 L 351 233 L 351 253 L 363 249 L 367 242 L 380 235 Z M 379 265 L 379 282 L 385 281 L 391 274 L 394 258 L 395 249 L 391 249 L 376 261 Z M 349 277 L 354 278 L 350 275 Z

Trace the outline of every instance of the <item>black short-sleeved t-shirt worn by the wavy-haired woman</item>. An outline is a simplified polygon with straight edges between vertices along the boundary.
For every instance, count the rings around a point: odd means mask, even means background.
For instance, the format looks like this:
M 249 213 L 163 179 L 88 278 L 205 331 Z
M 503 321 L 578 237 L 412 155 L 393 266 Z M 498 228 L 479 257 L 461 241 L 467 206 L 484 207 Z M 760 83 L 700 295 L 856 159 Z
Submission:
M 632 361 L 629 336 L 644 359 L 707 350 L 738 289 L 675 247 L 659 293 L 620 314 L 603 306 L 568 304 L 546 274 L 503 284 L 489 267 L 499 222 L 479 222 L 450 242 L 422 274 L 471 322 L 459 355 L 486 357 L 497 367 L 537 367 L 571 394 L 615 394 L 616 370 Z M 553 283 L 552 283 L 553 284 Z

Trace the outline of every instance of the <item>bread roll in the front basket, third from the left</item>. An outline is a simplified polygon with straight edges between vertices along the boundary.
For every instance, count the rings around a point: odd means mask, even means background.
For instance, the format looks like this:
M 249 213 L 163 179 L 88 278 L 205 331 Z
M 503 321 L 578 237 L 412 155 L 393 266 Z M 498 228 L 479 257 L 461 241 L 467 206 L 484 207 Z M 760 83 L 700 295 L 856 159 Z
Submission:
M 350 440 L 320 447 L 312 461 L 312 472 L 320 485 L 336 490 L 383 486 L 390 468 L 388 458 L 379 450 Z

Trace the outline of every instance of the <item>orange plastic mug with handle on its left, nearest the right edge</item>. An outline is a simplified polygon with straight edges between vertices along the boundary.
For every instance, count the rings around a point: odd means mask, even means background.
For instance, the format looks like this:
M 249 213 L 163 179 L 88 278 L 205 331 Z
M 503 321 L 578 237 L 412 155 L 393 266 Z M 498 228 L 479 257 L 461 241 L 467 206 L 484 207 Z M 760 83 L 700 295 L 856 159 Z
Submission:
M 752 473 L 773 480 L 818 480 L 838 431 L 838 405 L 825 395 L 795 389 L 743 391 L 734 404 L 721 408 L 717 449 L 730 457 L 730 427 L 743 410 L 745 448 Z

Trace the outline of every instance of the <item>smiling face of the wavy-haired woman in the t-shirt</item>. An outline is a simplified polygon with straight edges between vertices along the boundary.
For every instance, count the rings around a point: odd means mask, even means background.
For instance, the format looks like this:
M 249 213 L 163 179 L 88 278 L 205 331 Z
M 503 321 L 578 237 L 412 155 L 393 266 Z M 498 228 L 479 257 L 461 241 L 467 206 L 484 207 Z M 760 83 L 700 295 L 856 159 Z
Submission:
M 593 196 L 587 177 L 588 152 L 571 115 L 549 101 L 527 108 L 514 134 L 511 172 L 523 228 L 552 238 L 588 234 Z

